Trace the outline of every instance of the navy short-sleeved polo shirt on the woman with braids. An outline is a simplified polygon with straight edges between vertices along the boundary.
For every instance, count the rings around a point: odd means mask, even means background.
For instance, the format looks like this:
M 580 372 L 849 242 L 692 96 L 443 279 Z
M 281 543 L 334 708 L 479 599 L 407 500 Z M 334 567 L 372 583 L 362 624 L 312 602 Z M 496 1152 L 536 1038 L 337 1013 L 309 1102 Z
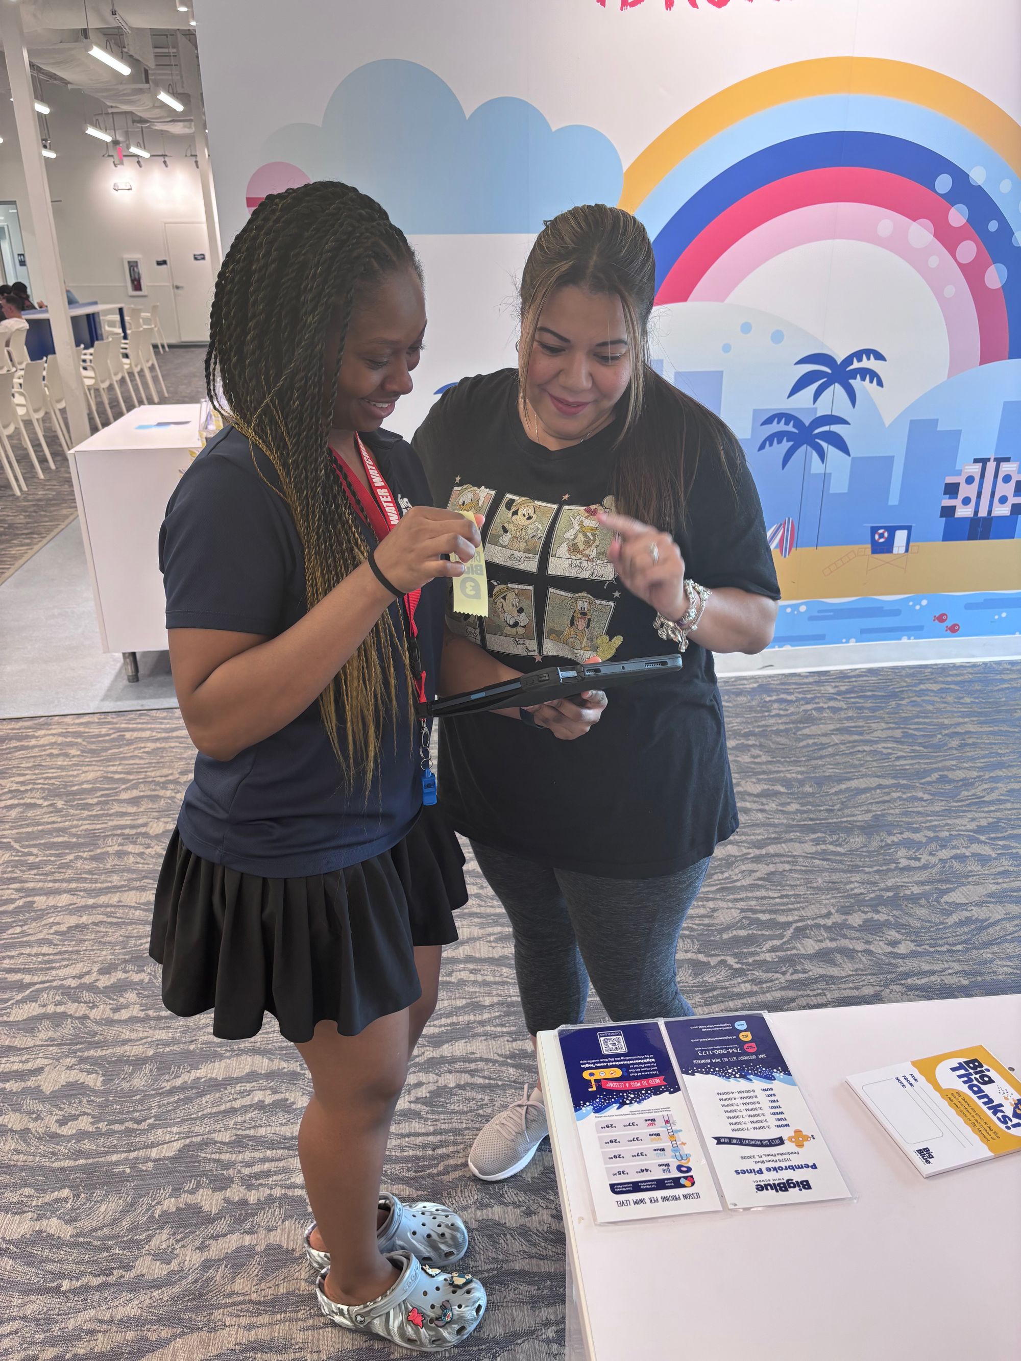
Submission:
M 362 438 L 396 498 L 432 504 L 399 436 Z M 159 532 L 167 629 L 275 637 L 306 612 L 302 546 L 278 485 L 270 460 L 230 426 L 195 459 Z M 415 612 L 430 694 L 444 603 L 445 581 L 430 583 Z M 400 630 L 396 604 L 391 612 Z M 181 840 L 206 860 L 267 878 L 328 874 L 381 855 L 407 836 L 422 806 L 417 735 L 403 710 L 389 723 L 368 788 L 344 783 L 317 701 L 230 761 L 199 753 L 177 819 Z

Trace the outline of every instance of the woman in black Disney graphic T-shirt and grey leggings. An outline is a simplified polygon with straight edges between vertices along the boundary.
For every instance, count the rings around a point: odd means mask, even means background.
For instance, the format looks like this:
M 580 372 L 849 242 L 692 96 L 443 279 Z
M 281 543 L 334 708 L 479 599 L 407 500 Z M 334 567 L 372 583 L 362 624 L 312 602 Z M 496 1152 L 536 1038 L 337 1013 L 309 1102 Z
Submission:
M 441 803 L 510 919 L 532 1037 L 583 1019 L 589 979 L 614 1021 L 692 1014 L 678 935 L 738 825 L 712 655 L 765 648 L 780 595 L 741 446 L 649 365 L 655 289 L 630 214 L 554 218 L 521 276 L 517 369 L 451 388 L 412 441 L 436 505 L 485 512 L 490 610 L 472 638 L 504 678 L 683 652 L 679 679 L 611 694 L 580 744 L 491 713 L 442 725 Z M 452 641 L 444 666 L 481 668 L 478 648 Z M 513 1176 L 545 1136 L 530 1083 L 468 1166 Z

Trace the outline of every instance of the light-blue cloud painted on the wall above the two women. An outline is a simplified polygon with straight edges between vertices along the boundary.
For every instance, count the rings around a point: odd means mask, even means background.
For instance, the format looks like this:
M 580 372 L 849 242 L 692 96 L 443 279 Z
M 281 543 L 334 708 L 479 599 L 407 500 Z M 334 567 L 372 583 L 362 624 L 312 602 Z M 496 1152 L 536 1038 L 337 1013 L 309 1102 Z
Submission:
M 355 184 L 404 231 L 423 234 L 539 231 L 576 203 L 617 203 L 623 180 L 617 148 L 595 128 L 554 131 L 512 98 L 466 117 L 453 90 L 414 61 L 358 67 L 321 127 L 280 128 L 263 157 Z

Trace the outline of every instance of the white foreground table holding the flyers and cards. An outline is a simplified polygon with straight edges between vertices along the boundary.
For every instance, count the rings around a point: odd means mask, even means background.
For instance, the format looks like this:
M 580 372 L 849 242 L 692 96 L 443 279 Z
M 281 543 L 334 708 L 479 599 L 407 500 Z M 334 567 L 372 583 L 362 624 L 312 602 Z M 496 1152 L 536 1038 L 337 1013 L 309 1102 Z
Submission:
M 1021 996 L 771 1013 L 856 1202 L 596 1225 L 553 1032 L 539 1036 L 589 1361 L 1021 1356 L 1021 1154 L 923 1179 L 848 1074 L 984 1044 L 1021 1068 Z

